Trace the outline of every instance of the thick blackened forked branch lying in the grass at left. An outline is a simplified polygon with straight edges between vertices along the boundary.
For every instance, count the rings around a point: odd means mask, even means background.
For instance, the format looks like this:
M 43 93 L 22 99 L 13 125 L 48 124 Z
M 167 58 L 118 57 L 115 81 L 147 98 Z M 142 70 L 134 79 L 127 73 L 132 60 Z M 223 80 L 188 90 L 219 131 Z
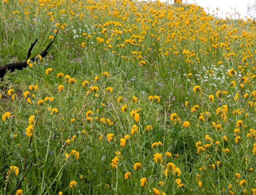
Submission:
M 59 29 L 60 30 L 60 29 Z M 50 46 L 54 43 L 55 41 L 55 38 L 59 32 L 59 30 L 56 32 L 55 36 L 54 36 L 54 39 L 51 43 L 49 43 L 49 45 L 47 45 L 46 49 L 40 54 L 40 56 L 45 57 L 48 52 L 47 50 L 50 48 Z M 0 66 L 0 79 L 1 78 L 4 78 L 5 76 L 5 73 L 8 71 L 11 71 L 11 72 L 14 72 L 16 69 L 17 70 L 22 70 L 23 68 L 26 68 L 28 65 L 27 65 L 27 60 L 29 59 L 29 57 L 31 56 L 31 51 L 34 47 L 34 45 L 36 44 L 37 42 L 37 39 L 35 40 L 34 43 L 31 44 L 29 50 L 28 50 L 28 54 L 27 54 L 27 59 L 26 61 L 23 61 L 23 62 L 10 62 L 10 63 L 7 63 L 5 65 L 2 65 Z M 33 62 L 35 61 L 35 56 L 31 59 Z

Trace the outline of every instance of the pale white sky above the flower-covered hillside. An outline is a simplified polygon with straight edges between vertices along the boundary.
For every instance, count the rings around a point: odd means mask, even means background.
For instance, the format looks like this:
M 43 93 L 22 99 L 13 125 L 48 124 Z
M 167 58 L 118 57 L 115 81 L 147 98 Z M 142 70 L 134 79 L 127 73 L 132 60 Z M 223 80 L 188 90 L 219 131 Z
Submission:
M 185 2 L 185 0 L 182 0 Z M 241 14 L 240 18 L 245 18 L 247 16 L 247 8 L 248 5 L 256 5 L 256 0 L 186 0 L 187 3 L 196 3 L 199 6 L 205 8 L 205 11 L 208 12 L 207 7 L 209 7 L 209 13 L 216 13 L 216 8 L 219 8 L 218 16 L 219 18 L 225 18 L 226 13 L 234 13 L 239 12 Z M 250 15 L 256 17 L 256 9 L 253 8 L 254 11 L 250 12 Z M 230 15 L 230 14 L 229 14 Z M 233 17 L 234 19 L 234 17 Z M 236 14 L 236 19 L 238 19 L 238 14 Z

